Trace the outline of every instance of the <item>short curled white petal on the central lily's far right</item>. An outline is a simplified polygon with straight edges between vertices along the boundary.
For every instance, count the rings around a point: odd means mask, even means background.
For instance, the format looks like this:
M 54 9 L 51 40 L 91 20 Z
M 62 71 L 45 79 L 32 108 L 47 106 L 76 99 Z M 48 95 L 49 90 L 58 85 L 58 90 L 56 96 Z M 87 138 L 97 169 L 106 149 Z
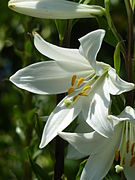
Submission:
M 122 80 L 113 68 L 109 69 L 108 75 L 109 92 L 112 95 L 119 95 L 135 88 L 133 83 Z

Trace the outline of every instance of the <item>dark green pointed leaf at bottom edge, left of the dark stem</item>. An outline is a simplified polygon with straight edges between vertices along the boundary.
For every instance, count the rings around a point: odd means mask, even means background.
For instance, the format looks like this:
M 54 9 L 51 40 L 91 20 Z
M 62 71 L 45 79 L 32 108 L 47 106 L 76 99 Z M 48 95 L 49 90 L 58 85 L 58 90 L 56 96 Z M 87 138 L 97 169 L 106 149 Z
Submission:
M 35 163 L 30 155 L 29 155 L 29 160 L 30 160 L 30 164 L 32 167 L 33 172 L 35 173 L 37 179 L 39 180 L 43 180 L 43 179 L 50 179 L 50 177 L 48 176 L 48 174 L 45 172 L 45 170 L 43 170 L 37 163 Z

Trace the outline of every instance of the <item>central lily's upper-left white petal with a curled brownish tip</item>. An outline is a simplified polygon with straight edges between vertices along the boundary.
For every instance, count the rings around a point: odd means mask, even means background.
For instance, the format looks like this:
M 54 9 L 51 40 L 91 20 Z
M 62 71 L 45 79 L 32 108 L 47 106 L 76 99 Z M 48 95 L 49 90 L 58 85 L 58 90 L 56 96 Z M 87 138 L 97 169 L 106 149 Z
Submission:
M 34 33 L 34 44 L 37 50 L 57 61 L 59 65 L 70 72 L 89 71 L 88 61 L 80 55 L 78 49 L 62 48 L 45 41 L 38 33 Z

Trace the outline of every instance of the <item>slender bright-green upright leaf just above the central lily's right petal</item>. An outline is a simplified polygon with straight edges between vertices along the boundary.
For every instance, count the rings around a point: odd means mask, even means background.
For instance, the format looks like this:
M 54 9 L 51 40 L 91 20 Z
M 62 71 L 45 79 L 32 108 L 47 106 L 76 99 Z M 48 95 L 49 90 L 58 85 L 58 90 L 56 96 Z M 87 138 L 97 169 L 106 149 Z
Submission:
M 120 65 L 121 65 L 120 47 L 121 47 L 121 43 L 119 42 L 114 51 L 114 68 L 116 69 L 117 74 L 119 74 Z

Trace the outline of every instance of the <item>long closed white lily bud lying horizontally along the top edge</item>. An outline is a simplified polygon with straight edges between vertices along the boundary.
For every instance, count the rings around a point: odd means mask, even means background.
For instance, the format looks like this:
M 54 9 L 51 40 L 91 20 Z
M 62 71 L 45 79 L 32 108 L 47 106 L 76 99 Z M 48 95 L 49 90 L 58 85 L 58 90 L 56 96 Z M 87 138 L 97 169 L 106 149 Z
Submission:
M 100 6 L 66 0 L 10 0 L 8 7 L 25 15 L 45 19 L 89 18 L 105 14 L 104 8 Z

